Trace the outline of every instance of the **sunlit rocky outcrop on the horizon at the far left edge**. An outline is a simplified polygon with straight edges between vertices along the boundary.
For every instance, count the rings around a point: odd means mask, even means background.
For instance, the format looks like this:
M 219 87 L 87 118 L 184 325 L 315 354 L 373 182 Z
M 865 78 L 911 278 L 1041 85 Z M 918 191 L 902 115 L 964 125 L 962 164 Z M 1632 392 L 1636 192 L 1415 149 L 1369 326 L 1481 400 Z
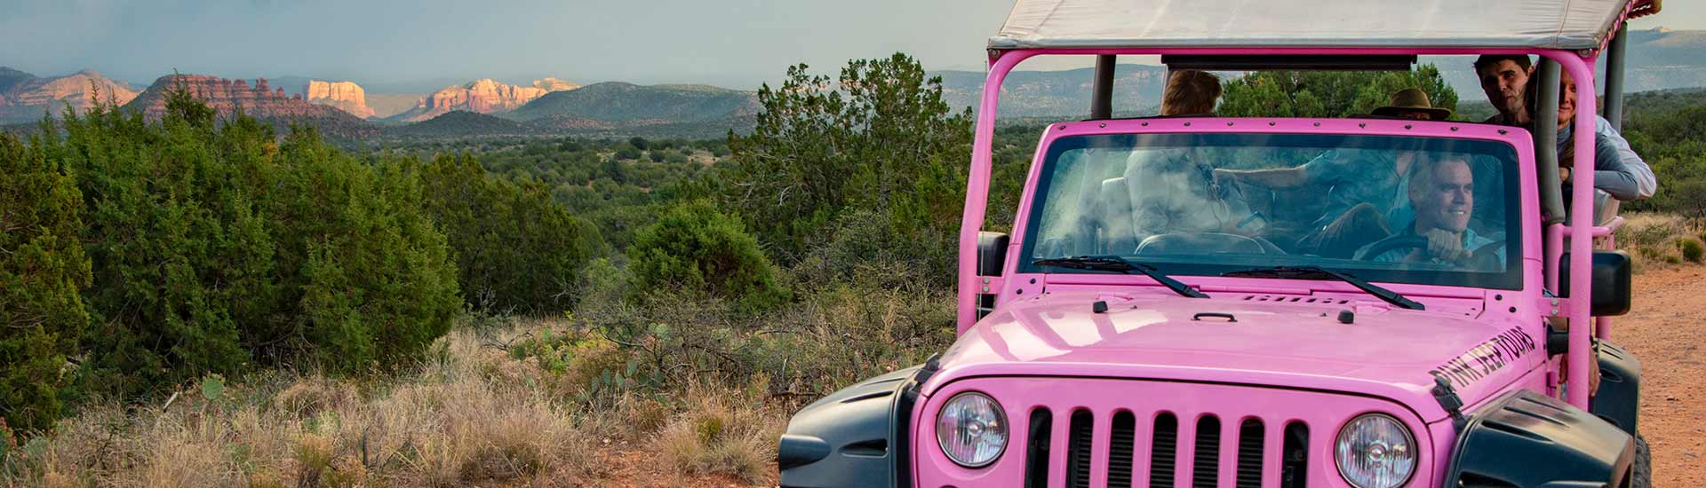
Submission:
M 94 70 L 82 70 L 63 77 L 36 77 L 19 70 L 0 73 L 0 121 L 31 121 L 44 113 L 55 113 L 70 106 L 84 113 L 96 104 L 96 99 L 126 104 L 136 97 L 136 90 L 121 82 L 114 82 Z

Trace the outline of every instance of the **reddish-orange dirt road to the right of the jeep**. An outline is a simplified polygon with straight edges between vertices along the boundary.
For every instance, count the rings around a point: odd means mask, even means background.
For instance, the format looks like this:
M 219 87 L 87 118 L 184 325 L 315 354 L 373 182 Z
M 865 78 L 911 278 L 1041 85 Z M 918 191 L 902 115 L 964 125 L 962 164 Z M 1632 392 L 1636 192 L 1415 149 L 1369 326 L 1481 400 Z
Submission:
M 1634 309 L 1612 324 L 1610 340 L 1641 358 L 1653 486 L 1706 486 L 1706 270 L 1636 276 Z

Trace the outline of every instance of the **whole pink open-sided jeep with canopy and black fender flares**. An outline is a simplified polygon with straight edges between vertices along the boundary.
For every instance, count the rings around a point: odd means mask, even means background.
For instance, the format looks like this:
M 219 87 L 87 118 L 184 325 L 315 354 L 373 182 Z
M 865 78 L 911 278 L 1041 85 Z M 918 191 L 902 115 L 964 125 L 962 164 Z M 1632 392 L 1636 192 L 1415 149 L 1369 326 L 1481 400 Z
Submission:
M 1542 85 L 1571 73 L 1593 114 L 1607 51 L 1617 125 L 1619 32 L 1643 7 L 1018 0 L 986 87 L 1032 56 L 1097 56 L 1090 118 L 1042 133 L 1013 239 L 979 232 L 1000 101 L 984 90 L 959 341 L 797 413 L 781 485 L 1646 486 L 1639 365 L 1605 341 L 1629 258 L 1595 251 L 1621 220 L 1595 222 L 1585 159 L 1566 212 L 1558 133 L 1109 116 L 1116 55 L 1218 72 L 1537 55 Z M 1539 94 L 1535 126 L 1558 102 Z

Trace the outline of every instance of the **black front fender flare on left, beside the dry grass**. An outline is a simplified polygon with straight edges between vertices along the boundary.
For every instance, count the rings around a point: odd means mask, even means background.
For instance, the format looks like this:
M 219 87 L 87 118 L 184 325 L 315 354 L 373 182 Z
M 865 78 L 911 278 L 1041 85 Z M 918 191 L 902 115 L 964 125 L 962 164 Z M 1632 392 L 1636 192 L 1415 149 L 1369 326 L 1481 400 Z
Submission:
M 911 486 L 913 406 L 937 357 L 807 404 L 776 449 L 781 486 Z

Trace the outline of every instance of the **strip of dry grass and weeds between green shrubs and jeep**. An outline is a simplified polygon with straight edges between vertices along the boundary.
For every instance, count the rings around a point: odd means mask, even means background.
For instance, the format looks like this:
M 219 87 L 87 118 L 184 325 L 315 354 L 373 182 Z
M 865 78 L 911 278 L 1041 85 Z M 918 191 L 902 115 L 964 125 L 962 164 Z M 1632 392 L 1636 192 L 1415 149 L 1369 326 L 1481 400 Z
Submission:
M 607 273 L 612 268 L 599 268 Z M 418 367 L 206 377 L 169 401 L 96 403 L 19 445 L 24 486 L 599 485 L 623 447 L 662 476 L 766 483 L 804 403 L 952 338 L 943 293 L 834 285 L 795 307 L 621 293 L 546 317 L 469 314 Z M 665 478 L 669 479 L 669 478 Z

